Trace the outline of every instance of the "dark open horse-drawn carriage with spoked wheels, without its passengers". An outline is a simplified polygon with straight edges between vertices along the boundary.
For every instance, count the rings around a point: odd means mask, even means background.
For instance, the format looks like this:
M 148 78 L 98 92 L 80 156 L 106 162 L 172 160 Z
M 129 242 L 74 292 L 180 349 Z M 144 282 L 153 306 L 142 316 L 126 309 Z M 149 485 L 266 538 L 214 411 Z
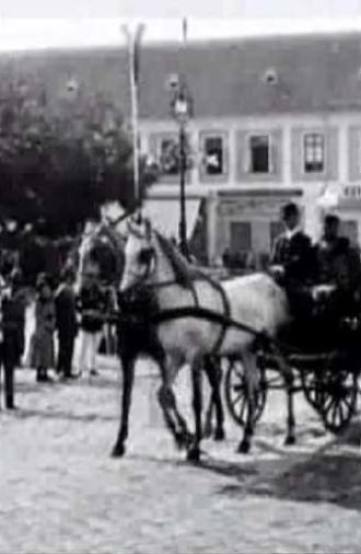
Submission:
M 318 311 L 323 311 L 324 305 Z M 358 411 L 361 394 L 361 321 L 360 316 L 339 316 L 327 324 L 327 314 L 313 314 L 301 345 L 280 343 L 280 348 L 294 373 L 292 393 L 302 392 L 319 415 L 325 428 L 342 431 Z M 232 322 L 231 322 L 232 324 Z M 322 331 L 326 327 L 326 332 Z M 299 330 L 300 333 L 300 330 Z M 326 335 L 326 337 L 325 337 Z M 324 336 L 324 341 L 319 341 Z M 233 420 L 244 426 L 248 401 L 242 359 L 220 358 L 217 362 L 224 376 L 224 399 Z M 267 349 L 257 351 L 259 386 L 256 395 L 255 419 L 259 420 L 271 391 L 284 388 L 277 360 Z

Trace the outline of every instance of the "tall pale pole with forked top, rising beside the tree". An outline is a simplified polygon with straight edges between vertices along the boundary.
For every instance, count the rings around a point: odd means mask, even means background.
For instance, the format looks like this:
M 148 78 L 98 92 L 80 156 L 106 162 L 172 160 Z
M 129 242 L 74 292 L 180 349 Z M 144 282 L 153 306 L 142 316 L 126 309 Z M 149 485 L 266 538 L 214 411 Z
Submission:
M 133 182 L 135 182 L 135 200 L 140 200 L 140 172 L 139 172 L 139 45 L 144 31 L 144 25 L 139 24 L 132 36 L 128 25 L 123 25 L 123 32 L 126 35 L 129 56 L 129 84 L 130 84 L 130 103 L 131 103 L 131 128 L 132 128 L 132 152 L 133 152 Z

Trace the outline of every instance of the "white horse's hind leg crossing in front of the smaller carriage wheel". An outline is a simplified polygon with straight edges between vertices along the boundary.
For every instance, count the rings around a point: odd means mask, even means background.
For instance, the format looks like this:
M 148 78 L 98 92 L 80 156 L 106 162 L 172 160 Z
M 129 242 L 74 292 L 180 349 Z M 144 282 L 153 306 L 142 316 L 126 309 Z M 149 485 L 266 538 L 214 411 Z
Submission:
M 248 403 L 247 420 L 244 427 L 243 439 L 241 440 L 237 452 L 246 454 L 249 452 L 252 438 L 255 428 L 255 411 L 256 411 L 256 394 L 259 385 L 258 368 L 256 357 L 252 351 L 244 353 L 242 357 L 244 363 L 245 379 L 246 379 L 246 395 Z

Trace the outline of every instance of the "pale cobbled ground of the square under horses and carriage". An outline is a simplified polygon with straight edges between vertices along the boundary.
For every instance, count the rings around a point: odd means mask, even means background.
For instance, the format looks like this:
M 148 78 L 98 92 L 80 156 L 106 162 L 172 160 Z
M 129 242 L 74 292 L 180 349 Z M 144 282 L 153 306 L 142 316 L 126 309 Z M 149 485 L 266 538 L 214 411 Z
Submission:
M 102 367 L 92 382 L 54 385 L 19 371 L 21 409 L 0 414 L 1 554 L 361 552 L 352 436 L 331 445 L 299 402 L 299 445 L 286 450 L 275 394 L 248 458 L 234 453 L 229 424 L 228 440 L 206 441 L 191 466 L 163 429 L 143 365 L 129 451 L 113 460 L 120 383 L 114 363 Z

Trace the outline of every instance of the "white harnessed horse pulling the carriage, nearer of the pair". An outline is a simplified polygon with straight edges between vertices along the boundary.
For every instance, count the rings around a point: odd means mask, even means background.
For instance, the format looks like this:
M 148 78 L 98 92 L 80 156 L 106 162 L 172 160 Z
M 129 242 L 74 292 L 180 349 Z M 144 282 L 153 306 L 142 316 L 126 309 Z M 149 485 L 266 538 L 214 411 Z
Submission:
M 129 224 L 120 291 L 125 292 L 141 284 L 153 291 L 160 314 L 174 309 L 205 308 L 216 314 L 225 314 L 259 333 L 267 333 L 270 337 L 275 337 L 290 320 L 286 293 L 268 275 L 254 274 L 214 284 L 190 266 L 170 241 L 152 229 L 148 220 L 140 218 Z M 242 357 L 249 411 L 238 451 L 247 452 L 254 430 L 255 397 L 259 377 L 255 357 L 255 335 L 232 325 L 226 327 L 222 325 L 222 321 L 193 315 L 191 312 L 159 321 L 156 334 L 165 353 L 162 373 L 165 391 L 173 394 L 172 386 L 179 369 L 184 366 L 191 368 L 196 436 L 188 450 L 190 460 L 198 460 L 200 455 L 199 379 L 202 360 L 214 354 L 214 348 L 219 356 Z M 292 370 L 286 362 L 280 363 L 280 370 L 286 381 L 290 382 Z M 291 400 L 287 443 L 292 443 L 294 442 L 292 394 L 289 397 Z

